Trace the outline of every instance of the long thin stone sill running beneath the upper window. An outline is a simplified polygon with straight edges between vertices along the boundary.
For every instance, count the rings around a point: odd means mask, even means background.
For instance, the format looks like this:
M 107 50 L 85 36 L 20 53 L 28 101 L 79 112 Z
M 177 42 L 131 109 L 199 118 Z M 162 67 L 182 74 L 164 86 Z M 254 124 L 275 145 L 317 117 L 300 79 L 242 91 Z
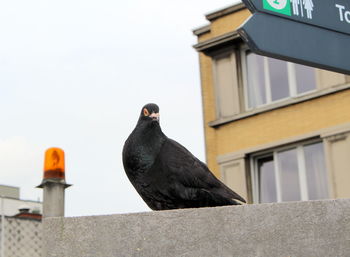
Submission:
M 225 118 L 219 118 L 217 120 L 211 121 L 208 123 L 209 127 L 219 127 L 221 125 L 224 125 L 226 123 L 230 123 L 233 121 L 237 121 L 237 120 L 241 120 L 241 119 L 245 119 L 254 115 L 258 115 L 264 112 L 268 112 L 268 111 L 272 111 L 272 110 L 276 110 L 279 108 L 285 108 L 287 106 L 290 105 L 294 105 L 294 104 L 298 104 L 301 102 L 305 102 L 308 100 L 312 100 L 315 98 L 319 98 L 325 95 L 329 95 L 329 94 L 333 94 L 342 90 L 347 90 L 350 89 L 350 84 L 343 84 L 343 85 L 336 85 L 330 88 L 326 88 L 326 89 L 322 89 L 322 90 L 318 90 L 318 91 L 314 91 L 310 94 L 304 94 L 301 96 L 297 96 L 297 97 L 293 97 L 293 98 L 288 98 L 284 101 L 279 101 L 277 103 L 272 103 L 269 105 L 265 105 L 263 107 L 259 107 L 253 110 L 248 110 L 246 112 L 242 112 L 239 113 L 237 115 L 234 116 L 230 116 L 230 117 L 225 117 Z

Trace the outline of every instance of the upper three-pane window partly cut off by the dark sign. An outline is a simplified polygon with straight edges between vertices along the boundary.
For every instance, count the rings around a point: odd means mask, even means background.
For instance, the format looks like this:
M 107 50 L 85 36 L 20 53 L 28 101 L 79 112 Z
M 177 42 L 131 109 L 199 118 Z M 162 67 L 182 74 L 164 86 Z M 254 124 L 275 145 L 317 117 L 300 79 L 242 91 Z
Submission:
M 244 51 L 246 108 L 253 109 L 316 89 L 315 69 Z

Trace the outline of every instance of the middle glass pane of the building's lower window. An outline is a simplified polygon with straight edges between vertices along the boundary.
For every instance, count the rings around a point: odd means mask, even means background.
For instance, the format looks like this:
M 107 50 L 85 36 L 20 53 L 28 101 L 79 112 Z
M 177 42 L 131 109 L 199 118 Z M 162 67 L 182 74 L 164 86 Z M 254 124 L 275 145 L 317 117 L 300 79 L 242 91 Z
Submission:
M 282 201 L 298 201 L 300 196 L 299 172 L 296 149 L 277 154 L 281 180 Z

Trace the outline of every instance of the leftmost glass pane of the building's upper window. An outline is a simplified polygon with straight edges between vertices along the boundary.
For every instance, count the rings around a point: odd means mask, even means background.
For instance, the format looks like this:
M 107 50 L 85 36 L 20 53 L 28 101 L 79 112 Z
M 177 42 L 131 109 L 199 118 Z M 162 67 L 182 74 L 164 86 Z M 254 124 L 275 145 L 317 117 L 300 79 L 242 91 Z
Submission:
M 248 108 L 254 108 L 266 103 L 264 57 L 248 53 L 247 71 Z

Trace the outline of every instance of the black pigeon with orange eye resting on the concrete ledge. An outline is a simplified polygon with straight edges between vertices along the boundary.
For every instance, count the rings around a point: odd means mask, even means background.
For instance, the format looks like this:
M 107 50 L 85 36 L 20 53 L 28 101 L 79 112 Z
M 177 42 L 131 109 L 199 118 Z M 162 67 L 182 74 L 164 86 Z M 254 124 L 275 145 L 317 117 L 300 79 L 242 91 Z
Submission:
M 124 169 L 152 210 L 238 205 L 245 202 L 159 125 L 159 107 L 145 105 L 123 148 Z

